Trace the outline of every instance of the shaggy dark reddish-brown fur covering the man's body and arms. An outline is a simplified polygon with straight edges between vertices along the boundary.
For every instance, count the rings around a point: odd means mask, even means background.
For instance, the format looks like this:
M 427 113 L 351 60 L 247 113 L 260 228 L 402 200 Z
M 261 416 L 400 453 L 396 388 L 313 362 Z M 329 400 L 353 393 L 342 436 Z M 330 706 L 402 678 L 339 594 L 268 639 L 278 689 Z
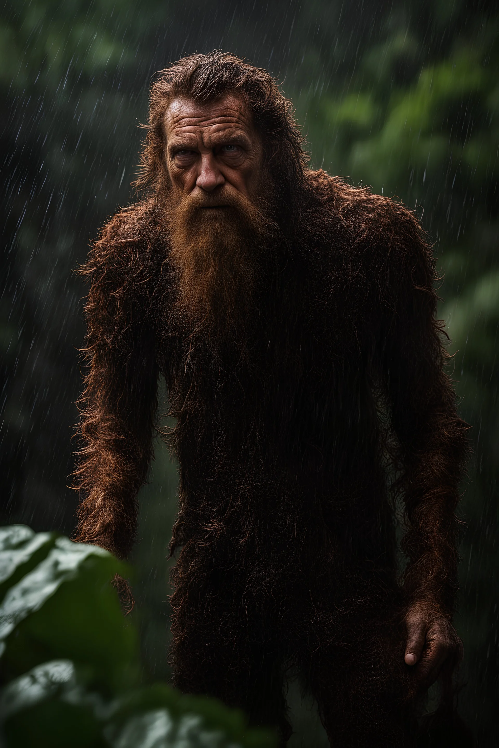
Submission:
M 303 165 L 296 174 L 281 186 L 278 260 L 245 322 L 244 355 L 237 335 L 203 336 L 175 313 L 160 180 L 102 230 L 83 271 L 78 537 L 129 553 L 162 373 L 180 464 L 176 684 L 286 736 L 282 678 L 296 668 L 331 739 L 409 745 L 403 613 L 424 601 L 452 616 L 468 450 L 435 321 L 435 263 L 400 203 Z

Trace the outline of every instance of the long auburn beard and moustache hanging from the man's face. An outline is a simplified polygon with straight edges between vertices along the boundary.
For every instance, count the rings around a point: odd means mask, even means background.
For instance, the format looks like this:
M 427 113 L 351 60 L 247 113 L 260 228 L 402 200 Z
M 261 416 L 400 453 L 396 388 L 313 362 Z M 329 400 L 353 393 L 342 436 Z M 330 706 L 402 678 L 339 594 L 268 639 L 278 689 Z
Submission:
M 264 194 L 265 193 L 265 194 Z M 175 200 L 168 191 L 166 224 L 175 278 L 174 314 L 192 336 L 212 343 L 242 343 L 257 317 L 256 295 L 272 268 L 278 227 L 272 218 L 272 189 L 254 200 L 230 185 L 216 196 Z M 204 206 L 227 203 L 206 210 Z

